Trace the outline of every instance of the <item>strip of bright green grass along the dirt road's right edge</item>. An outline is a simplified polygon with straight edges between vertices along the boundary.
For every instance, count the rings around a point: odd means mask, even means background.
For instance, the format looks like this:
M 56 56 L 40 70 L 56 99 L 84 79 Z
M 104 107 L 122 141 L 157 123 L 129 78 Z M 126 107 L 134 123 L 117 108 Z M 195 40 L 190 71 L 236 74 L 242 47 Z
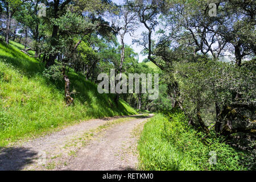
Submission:
M 162 114 L 156 114 L 144 125 L 138 142 L 139 168 L 150 171 L 199 169 L 163 138 L 164 122 L 167 121 Z

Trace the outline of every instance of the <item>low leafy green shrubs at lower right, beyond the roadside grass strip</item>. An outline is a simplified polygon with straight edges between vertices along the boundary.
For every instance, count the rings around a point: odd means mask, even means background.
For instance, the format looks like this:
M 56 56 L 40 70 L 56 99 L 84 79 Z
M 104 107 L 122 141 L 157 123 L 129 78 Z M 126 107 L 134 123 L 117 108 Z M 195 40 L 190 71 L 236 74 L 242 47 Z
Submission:
M 169 121 L 164 123 L 163 137 L 177 150 L 191 158 L 191 162 L 201 170 L 244 170 L 241 165 L 242 152 L 234 150 L 225 144 L 222 138 L 209 137 L 202 139 L 205 134 L 195 131 L 187 123 L 185 115 L 180 111 L 168 114 Z M 208 162 L 210 151 L 217 154 L 217 163 Z

